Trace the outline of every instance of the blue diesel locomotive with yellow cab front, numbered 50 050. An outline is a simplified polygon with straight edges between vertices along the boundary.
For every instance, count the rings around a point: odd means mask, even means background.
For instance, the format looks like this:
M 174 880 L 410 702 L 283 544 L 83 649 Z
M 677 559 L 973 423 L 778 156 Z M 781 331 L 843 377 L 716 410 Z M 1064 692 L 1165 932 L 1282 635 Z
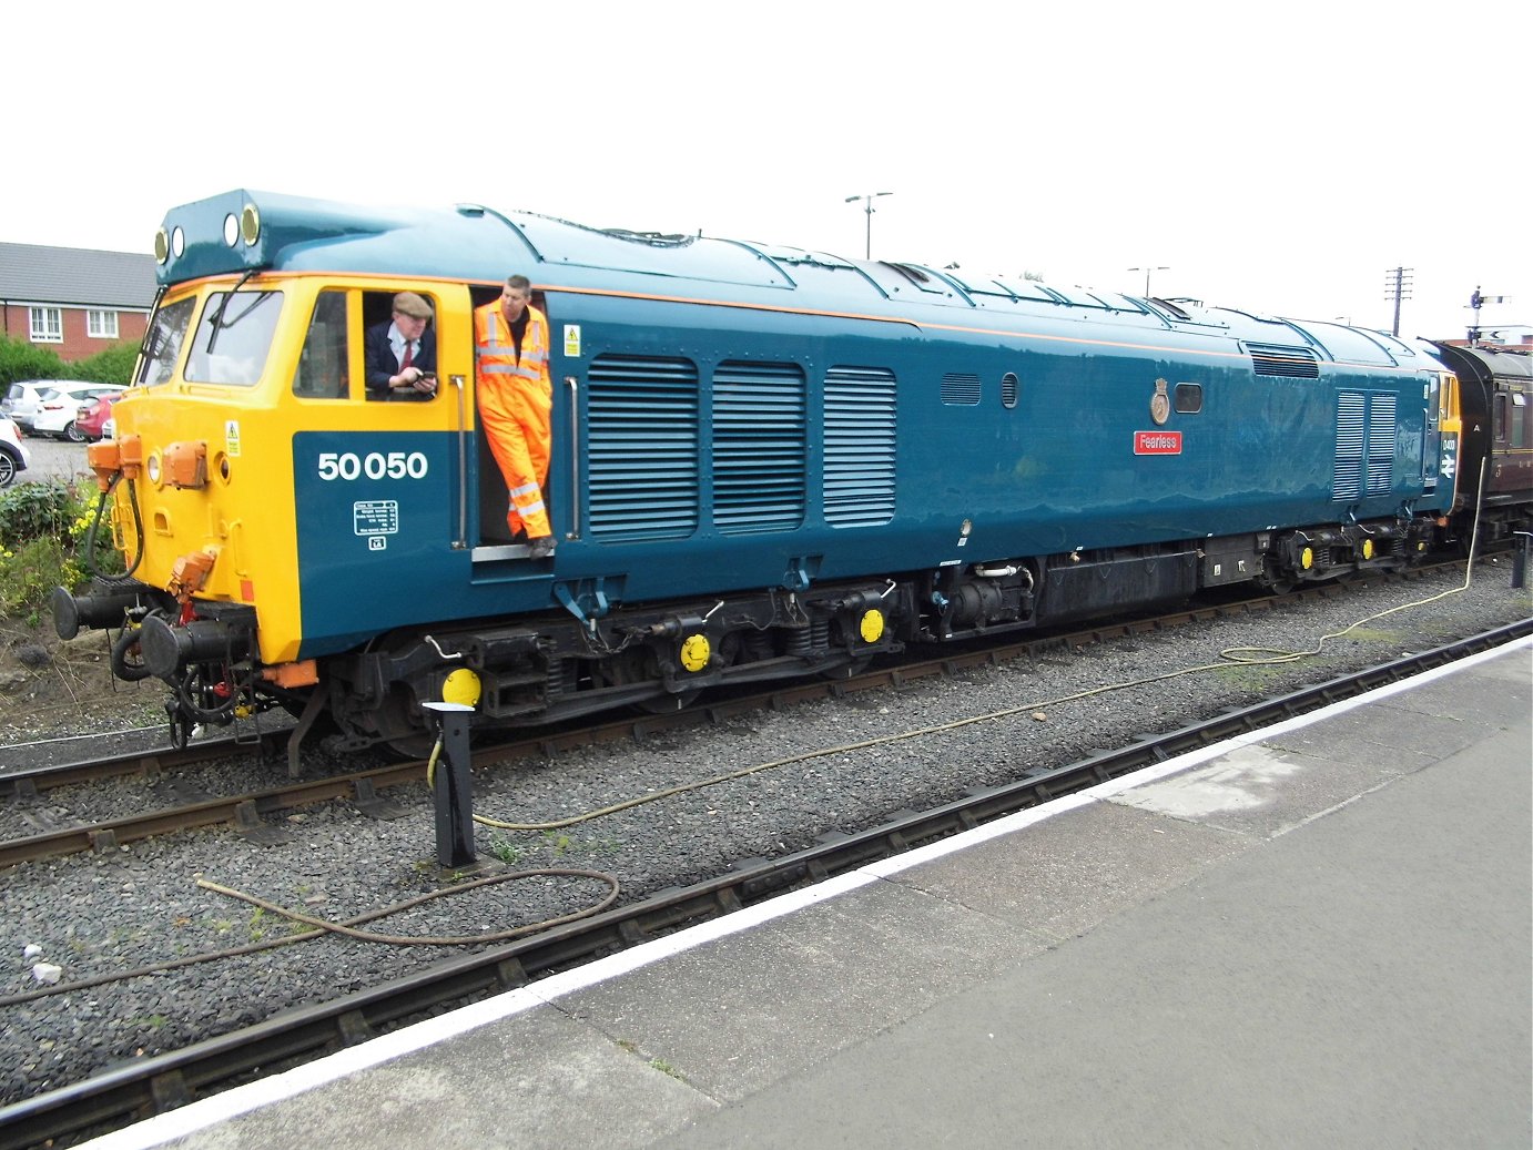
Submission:
M 1164 299 L 480 205 L 231 192 L 172 210 L 118 435 L 90 462 L 129 578 L 55 595 L 172 688 L 343 745 L 725 682 L 1429 550 L 1455 506 L 1433 348 Z M 552 334 L 558 550 L 506 529 L 472 308 L 530 278 Z M 440 388 L 369 402 L 412 291 Z

